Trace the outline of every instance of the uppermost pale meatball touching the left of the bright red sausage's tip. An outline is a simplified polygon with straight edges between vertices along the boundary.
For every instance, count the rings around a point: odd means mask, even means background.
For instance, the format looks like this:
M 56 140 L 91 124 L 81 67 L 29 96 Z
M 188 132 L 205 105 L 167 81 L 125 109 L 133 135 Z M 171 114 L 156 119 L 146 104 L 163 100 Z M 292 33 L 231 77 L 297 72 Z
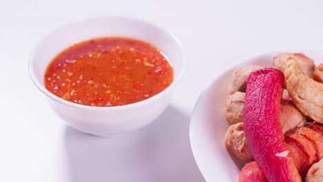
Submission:
M 246 90 L 246 79 L 249 74 L 262 68 L 263 67 L 260 65 L 247 65 L 233 71 L 229 93 L 234 94 L 237 91 L 244 92 L 244 90 Z

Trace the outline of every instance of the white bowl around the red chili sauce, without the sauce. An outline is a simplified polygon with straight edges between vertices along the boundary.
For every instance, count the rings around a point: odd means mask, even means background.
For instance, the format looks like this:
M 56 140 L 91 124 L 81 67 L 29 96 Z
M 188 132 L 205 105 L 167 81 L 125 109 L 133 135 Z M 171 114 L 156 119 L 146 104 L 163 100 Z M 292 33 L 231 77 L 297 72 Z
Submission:
M 128 105 L 92 107 L 65 101 L 44 87 L 43 77 L 50 61 L 70 45 L 97 37 L 130 37 L 151 43 L 170 59 L 174 81 L 159 94 Z M 144 127 L 166 109 L 174 86 L 182 77 L 184 59 L 182 45 L 161 28 L 125 17 L 97 17 L 70 23 L 48 34 L 32 53 L 29 61 L 32 81 L 46 94 L 50 106 L 66 123 L 77 130 L 97 136 L 113 136 Z

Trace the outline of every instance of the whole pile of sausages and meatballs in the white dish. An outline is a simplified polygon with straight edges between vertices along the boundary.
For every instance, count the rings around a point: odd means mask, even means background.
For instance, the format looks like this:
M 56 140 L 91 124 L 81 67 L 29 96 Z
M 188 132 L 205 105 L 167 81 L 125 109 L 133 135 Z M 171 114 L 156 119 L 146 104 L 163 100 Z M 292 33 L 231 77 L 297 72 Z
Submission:
M 274 66 L 283 72 L 244 67 L 232 76 L 231 88 L 238 89 L 226 101 L 231 126 L 224 141 L 232 156 L 248 162 L 239 181 L 323 181 L 323 64 L 283 53 Z

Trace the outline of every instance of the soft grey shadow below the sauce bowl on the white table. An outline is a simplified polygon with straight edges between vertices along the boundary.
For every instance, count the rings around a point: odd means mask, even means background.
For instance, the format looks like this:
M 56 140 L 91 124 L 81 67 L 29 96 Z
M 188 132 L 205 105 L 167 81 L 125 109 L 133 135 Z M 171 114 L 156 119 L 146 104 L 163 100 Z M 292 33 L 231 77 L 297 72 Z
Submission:
M 190 149 L 189 121 L 170 105 L 145 128 L 112 138 L 67 126 L 69 181 L 204 181 Z

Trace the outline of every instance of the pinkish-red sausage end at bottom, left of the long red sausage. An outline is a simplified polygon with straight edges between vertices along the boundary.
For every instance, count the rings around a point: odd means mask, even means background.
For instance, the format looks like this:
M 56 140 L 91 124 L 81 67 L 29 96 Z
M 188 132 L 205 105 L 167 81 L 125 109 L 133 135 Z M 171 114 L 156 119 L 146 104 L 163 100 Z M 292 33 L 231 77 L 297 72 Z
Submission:
M 246 163 L 239 174 L 239 182 L 266 182 L 264 173 L 255 161 Z

